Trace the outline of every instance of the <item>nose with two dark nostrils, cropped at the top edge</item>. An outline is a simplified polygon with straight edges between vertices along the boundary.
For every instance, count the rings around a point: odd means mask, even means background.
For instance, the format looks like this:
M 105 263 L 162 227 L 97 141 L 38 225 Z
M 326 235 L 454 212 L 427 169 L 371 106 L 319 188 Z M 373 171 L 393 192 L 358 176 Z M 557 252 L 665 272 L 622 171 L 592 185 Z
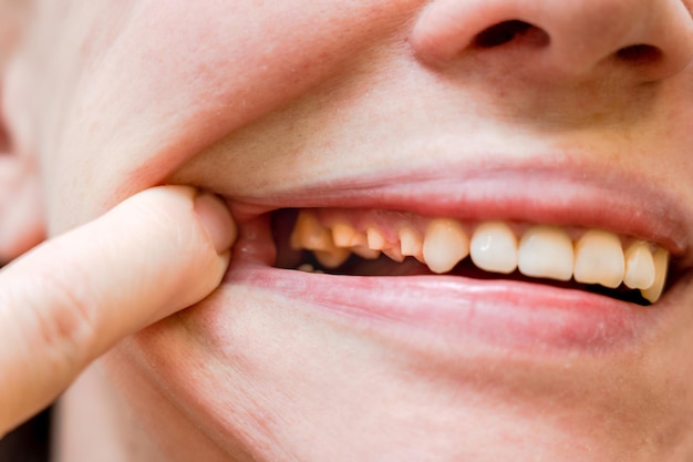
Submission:
M 495 55 L 537 78 L 585 79 L 619 66 L 643 82 L 689 64 L 692 24 L 682 0 L 433 0 L 410 43 L 432 65 L 505 50 Z

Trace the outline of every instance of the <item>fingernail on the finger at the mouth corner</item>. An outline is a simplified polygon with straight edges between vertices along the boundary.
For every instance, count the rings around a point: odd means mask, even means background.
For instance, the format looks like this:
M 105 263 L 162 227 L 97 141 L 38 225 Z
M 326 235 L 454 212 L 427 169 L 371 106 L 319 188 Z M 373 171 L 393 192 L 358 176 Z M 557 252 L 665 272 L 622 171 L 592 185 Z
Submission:
M 238 230 L 224 201 L 215 195 L 204 193 L 195 198 L 194 207 L 207 230 L 207 235 L 214 243 L 217 254 L 224 254 L 230 249 L 236 242 Z

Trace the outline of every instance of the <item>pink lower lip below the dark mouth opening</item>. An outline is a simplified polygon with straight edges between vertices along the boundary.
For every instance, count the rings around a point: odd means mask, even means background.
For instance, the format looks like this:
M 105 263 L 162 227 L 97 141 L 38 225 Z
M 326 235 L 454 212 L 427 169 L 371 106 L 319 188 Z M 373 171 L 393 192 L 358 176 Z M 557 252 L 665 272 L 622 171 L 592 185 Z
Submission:
M 237 261 L 225 284 L 246 285 L 407 337 L 525 351 L 598 350 L 638 342 L 666 300 L 645 308 L 575 289 L 457 276 L 359 277 Z M 672 294 L 670 294 L 672 295 Z

